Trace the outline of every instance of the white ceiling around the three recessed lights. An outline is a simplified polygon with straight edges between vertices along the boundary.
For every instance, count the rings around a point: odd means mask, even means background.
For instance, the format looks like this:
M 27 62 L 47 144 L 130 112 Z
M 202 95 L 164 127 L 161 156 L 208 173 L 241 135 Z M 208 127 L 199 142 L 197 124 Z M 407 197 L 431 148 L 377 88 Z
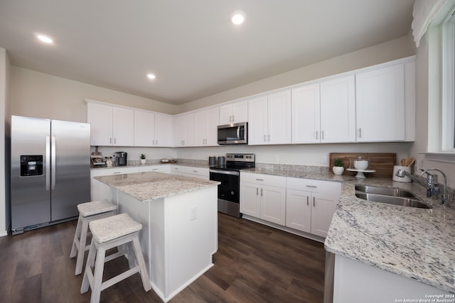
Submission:
M 179 105 L 407 35 L 413 4 L 1 0 L 0 47 L 16 66 Z

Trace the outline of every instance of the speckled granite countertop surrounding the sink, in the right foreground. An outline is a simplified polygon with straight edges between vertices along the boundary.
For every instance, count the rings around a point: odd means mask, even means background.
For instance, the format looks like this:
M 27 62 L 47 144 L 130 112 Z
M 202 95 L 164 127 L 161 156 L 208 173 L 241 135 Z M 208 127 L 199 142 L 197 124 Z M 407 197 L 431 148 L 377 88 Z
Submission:
M 355 184 L 407 189 L 433 209 L 367 202 Z M 326 250 L 455 293 L 455 205 L 427 199 L 414 183 L 386 178 L 347 181 L 325 241 Z

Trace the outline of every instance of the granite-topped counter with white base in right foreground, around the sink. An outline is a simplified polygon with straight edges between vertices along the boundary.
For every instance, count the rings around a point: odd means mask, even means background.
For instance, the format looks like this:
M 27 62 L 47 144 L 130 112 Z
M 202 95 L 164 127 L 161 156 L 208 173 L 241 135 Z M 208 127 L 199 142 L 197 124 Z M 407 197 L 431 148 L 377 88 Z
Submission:
M 407 189 L 433 208 L 368 202 L 355 197 L 358 183 Z M 428 199 L 414 183 L 346 181 L 325 241 L 333 302 L 455 302 L 454 243 L 455 205 Z

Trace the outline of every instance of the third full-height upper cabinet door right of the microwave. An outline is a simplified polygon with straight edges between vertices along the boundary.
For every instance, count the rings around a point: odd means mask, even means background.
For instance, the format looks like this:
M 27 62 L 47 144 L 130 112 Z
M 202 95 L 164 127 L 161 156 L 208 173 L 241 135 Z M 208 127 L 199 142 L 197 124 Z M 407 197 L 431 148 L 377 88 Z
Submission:
M 321 141 L 319 83 L 292 89 L 292 143 Z

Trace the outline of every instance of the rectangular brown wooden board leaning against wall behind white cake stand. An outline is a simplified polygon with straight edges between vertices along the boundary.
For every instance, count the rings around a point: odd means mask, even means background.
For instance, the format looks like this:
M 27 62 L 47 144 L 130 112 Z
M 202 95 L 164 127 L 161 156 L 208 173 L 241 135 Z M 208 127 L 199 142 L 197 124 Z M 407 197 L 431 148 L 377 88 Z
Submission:
M 375 170 L 376 172 L 366 172 L 366 177 L 388 177 L 393 175 L 393 165 L 397 160 L 395 153 L 330 153 L 330 172 L 332 172 L 333 160 L 336 158 L 343 159 L 344 172 L 343 175 L 357 175 L 357 172 L 350 172 L 346 170 L 349 167 L 350 160 L 362 156 L 365 160 L 369 160 L 368 170 Z

